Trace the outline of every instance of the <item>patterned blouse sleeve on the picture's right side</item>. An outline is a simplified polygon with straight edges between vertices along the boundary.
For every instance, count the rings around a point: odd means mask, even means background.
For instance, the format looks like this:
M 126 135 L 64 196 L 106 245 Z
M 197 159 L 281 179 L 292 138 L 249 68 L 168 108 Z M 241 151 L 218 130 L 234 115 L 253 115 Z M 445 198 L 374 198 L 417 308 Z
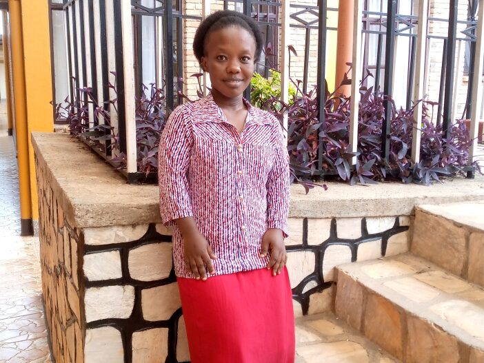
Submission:
M 272 145 L 274 147 L 274 163 L 266 185 L 268 193 L 267 227 L 282 229 L 284 237 L 288 237 L 289 154 L 285 145 L 282 127 L 275 117 Z

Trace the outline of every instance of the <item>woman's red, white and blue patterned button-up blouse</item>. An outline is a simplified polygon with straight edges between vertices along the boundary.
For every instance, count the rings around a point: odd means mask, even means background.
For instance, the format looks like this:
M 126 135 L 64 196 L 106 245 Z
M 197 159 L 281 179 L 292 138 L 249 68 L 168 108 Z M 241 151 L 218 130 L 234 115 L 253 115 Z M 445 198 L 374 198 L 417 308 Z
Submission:
M 228 123 L 212 95 L 177 107 L 159 147 L 161 219 L 173 225 L 173 260 L 185 267 L 183 239 L 174 219 L 192 216 L 217 256 L 216 275 L 261 269 L 262 236 L 279 228 L 287 236 L 288 151 L 277 119 L 244 100 L 243 132 Z

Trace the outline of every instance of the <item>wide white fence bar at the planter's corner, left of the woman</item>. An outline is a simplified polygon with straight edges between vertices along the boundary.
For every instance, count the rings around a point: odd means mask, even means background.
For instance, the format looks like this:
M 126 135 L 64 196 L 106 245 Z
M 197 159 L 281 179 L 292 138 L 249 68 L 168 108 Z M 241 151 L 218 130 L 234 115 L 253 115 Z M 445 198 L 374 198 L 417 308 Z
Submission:
M 136 174 L 137 141 L 136 141 L 136 114 L 134 107 L 134 55 L 133 31 L 131 20 L 131 1 L 121 0 L 121 34 L 123 37 L 123 82 L 124 82 L 124 110 L 126 127 L 126 160 L 128 182 L 130 176 Z M 120 100 L 121 102 L 121 100 Z

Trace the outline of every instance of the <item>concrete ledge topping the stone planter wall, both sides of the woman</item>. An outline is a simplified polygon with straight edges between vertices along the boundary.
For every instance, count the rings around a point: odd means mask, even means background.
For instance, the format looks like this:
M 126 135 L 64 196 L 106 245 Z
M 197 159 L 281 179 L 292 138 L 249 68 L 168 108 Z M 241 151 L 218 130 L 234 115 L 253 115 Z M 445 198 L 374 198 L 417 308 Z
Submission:
M 115 170 L 67 134 L 33 133 L 39 163 L 50 170 L 54 189 L 67 218 L 76 227 L 138 225 L 160 222 L 156 185 L 128 185 Z M 454 178 L 425 187 L 379 183 L 369 187 L 327 183 L 305 194 L 301 185 L 291 187 L 290 216 L 333 218 L 404 216 L 415 205 L 484 200 L 484 178 Z

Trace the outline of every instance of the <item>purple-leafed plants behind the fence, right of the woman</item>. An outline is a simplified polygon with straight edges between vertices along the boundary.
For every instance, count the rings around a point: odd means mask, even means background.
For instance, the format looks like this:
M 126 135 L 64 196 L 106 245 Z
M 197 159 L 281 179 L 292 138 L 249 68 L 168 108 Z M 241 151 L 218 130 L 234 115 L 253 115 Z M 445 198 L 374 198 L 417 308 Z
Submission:
M 372 76 L 367 72 L 367 76 Z M 365 80 L 363 80 L 365 81 Z M 363 81 L 361 84 L 363 84 Z M 463 174 L 470 149 L 470 136 L 463 121 L 457 121 L 450 130 L 450 140 L 443 138 L 441 126 L 430 121 L 428 106 L 423 103 L 421 123 L 414 120 L 414 107 L 410 110 L 397 110 L 390 96 L 374 92 L 372 88 L 361 86 L 359 102 L 358 146 L 351 152 L 350 140 L 350 97 L 338 96 L 337 90 L 330 94 L 325 85 L 324 121 L 319 121 L 316 87 L 303 94 L 300 81 L 293 82 L 298 92 L 294 103 L 283 105 L 271 98 L 263 105 L 265 110 L 282 119 L 288 112 L 288 151 L 292 179 L 299 180 L 305 187 L 312 187 L 316 176 L 324 178 L 336 175 L 351 185 L 376 183 L 379 180 L 402 180 L 404 183 L 430 185 L 432 180 L 440 181 L 441 176 Z M 350 84 L 345 77 L 342 84 Z M 385 103 L 392 110 L 390 129 L 390 155 L 388 160 L 381 158 L 381 135 L 385 117 Z M 412 131 L 421 129 L 421 161 L 412 166 Z M 318 170 L 321 154 L 321 171 Z M 352 159 L 356 165 L 352 167 Z M 478 165 L 474 163 L 478 169 Z

